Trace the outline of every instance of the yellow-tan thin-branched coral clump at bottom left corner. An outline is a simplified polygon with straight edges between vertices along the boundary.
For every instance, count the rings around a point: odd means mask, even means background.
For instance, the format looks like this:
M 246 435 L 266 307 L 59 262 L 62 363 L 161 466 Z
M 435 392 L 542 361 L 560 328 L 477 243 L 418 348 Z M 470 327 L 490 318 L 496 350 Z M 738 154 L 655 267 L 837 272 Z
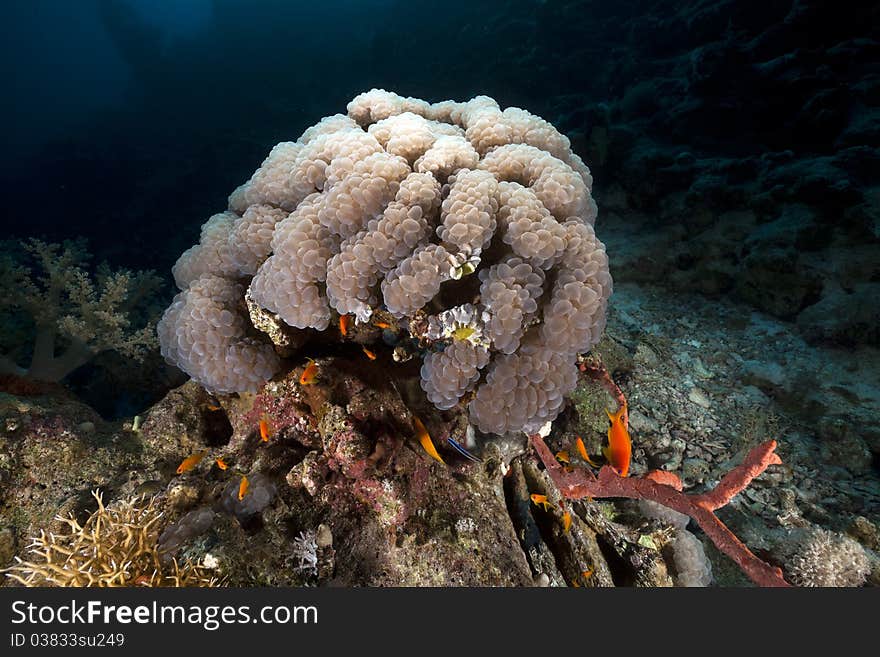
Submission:
M 155 497 L 104 506 L 85 523 L 56 519 L 68 532 L 41 531 L 31 539 L 30 559 L 16 557 L 6 576 L 24 586 L 216 586 L 209 570 L 190 561 L 162 560 L 157 547 L 162 512 Z M 170 561 L 170 563 L 169 563 Z

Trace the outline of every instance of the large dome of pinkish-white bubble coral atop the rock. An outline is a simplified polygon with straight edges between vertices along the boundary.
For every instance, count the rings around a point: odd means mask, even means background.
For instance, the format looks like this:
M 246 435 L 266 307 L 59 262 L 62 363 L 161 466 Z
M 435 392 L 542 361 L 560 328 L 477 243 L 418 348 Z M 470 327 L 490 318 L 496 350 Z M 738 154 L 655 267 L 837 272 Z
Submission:
M 373 89 L 275 146 L 203 226 L 174 267 L 162 353 L 210 390 L 243 392 L 281 367 L 245 292 L 296 329 L 425 313 L 439 336 L 421 369 L 429 399 L 474 392 L 481 431 L 534 431 L 605 327 L 591 187 L 569 140 L 525 110 Z

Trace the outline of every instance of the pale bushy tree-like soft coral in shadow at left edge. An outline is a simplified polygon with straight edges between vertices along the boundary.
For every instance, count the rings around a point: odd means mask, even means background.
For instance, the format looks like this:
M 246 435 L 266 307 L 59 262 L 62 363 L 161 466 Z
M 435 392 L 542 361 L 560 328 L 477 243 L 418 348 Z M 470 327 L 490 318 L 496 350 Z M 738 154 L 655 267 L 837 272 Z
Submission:
M 112 271 L 102 265 L 90 276 L 82 242 L 28 240 L 22 246 L 23 258 L 0 257 L 6 281 L 0 310 L 29 316 L 36 337 L 30 365 L 19 366 L 12 355 L 0 354 L 0 374 L 60 381 L 102 351 L 141 361 L 157 347 L 152 325 L 132 327 L 161 285 L 153 272 Z

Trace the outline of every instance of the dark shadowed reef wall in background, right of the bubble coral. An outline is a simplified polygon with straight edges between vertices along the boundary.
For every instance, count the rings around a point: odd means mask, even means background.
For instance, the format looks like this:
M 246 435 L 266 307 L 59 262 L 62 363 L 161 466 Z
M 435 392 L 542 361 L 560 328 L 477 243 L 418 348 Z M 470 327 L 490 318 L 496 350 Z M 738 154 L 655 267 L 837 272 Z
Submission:
M 599 171 L 615 277 L 731 296 L 810 342 L 877 346 L 877 8 L 577 4 L 546 5 L 547 30 L 564 19 L 589 44 L 564 44 L 557 65 L 614 48 L 547 114 Z

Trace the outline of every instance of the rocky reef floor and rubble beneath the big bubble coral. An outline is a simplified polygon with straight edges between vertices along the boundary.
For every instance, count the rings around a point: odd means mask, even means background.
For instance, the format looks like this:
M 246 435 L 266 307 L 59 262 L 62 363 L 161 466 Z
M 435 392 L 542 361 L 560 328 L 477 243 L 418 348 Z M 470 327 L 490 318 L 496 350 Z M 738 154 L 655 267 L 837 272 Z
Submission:
M 685 492 L 700 492 L 751 447 L 775 438 L 782 465 L 770 466 L 719 517 L 790 583 L 877 584 L 876 446 L 863 426 L 843 420 L 861 404 L 840 397 L 833 382 L 815 382 L 814 406 L 833 404 L 843 422 L 818 431 L 798 405 L 771 396 L 771 386 L 785 385 L 809 358 L 828 367 L 835 359 L 782 323 L 732 331 L 730 319 L 746 313 L 740 305 L 709 313 L 699 296 L 679 295 L 687 312 L 670 317 L 668 297 L 646 301 L 630 285 L 617 295 L 593 351 L 629 399 L 630 476 L 660 468 L 677 473 Z M 752 322 L 767 321 L 759 318 Z M 757 367 L 747 364 L 749 349 L 769 361 L 781 340 L 791 360 L 776 383 L 755 371 L 744 385 L 742 368 Z M 86 522 L 96 506 L 90 491 L 99 488 L 108 506 L 155 496 L 164 514 L 158 549 L 221 583 L 748 584 L 687 518 L 636 501 L 565 503 L 525 436 L 469 439 L 467 413 L 428 402 L 414 363 L 394 365 L 393 384 L 391 365 L 366 358 L 356 343 L 315 354 L 314 364 L 310 383 L 301 383 L 309 363 L 300 362 L 255 393 L 210 395 L 189 382 L 134 423 L 105 422 L 61 389 L 4 394 L 3 564 L 16 555 L 33 559 L 28 537 L 40 529 L 63 533 L 67 524 L 56 515 Z M 854 366 L 851 376 L 875 374 L 871 363 Z M 588 467 L 573 443 L 582 437 L 598 453 L 603 409 L 613 403 L 581 379 L 547 444 L 568 452 L 572 468 Z M 415 418 L 445 463 L 419 445 Z M 461 456 L 449 438 L 481 461 Z M 177 474 L 192 455 L 202 458 Z M 249 490 L 239 499 L 245 476 Z M 546 495 L 547 508 L 533 494 Z M 571 514 L 567 530 L 563 509 Z

